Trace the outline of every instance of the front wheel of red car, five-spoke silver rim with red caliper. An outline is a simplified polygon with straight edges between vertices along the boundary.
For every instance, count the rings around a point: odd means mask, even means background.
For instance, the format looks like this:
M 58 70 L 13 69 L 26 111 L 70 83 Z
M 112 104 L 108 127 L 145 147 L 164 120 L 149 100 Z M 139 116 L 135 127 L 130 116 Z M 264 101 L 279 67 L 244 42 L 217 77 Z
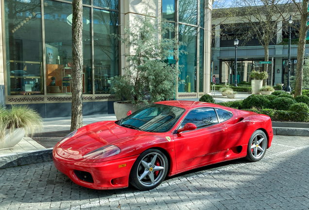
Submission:
M 130 183 L 138 190 L 154 189 L 164 180 L 168 168 L 168 159 L 160 150 L 146 150 L 131 169 Z

